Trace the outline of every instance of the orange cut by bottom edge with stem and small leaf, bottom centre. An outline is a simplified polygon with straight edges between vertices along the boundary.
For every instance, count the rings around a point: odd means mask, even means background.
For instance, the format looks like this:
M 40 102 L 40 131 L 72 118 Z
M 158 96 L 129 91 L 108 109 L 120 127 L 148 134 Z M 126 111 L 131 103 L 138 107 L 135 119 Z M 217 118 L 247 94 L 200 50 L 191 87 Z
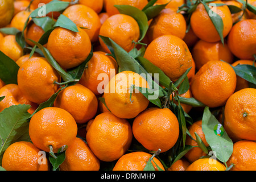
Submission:
M 113 171 L 143 171 L 144 167 L 146 167 L 146 164 L 151 157 L 152 155 L 146 152 L 130 152 L 118 159 L 117 163 L 113 168 Z M 153 158 L 153 160 L 158 165 L 158 167 L 165 170 L 162 163 L 157 158 Z M 151 161 L 155 170 L 158 171 L 158 168 L 156 167 L 154 162 Z

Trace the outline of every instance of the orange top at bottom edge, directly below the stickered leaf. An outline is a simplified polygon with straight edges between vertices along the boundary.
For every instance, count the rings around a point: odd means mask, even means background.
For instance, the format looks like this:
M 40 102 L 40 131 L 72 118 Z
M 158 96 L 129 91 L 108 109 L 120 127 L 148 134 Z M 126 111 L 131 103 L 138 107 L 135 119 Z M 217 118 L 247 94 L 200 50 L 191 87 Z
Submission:
M 225 171 L 226 167 L 216 159 L 197 159 L 190 164 L 186 171 Z

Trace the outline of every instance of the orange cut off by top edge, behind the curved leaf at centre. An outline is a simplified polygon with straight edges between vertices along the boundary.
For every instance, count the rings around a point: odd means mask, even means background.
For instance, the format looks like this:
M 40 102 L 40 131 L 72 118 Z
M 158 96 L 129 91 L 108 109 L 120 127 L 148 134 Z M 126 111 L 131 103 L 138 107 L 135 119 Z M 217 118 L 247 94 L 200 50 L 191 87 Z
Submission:
M 142 10 L 147 5 L 147 0 L 104 0 L 104 9 L 110 16 L 119 14 L 114 5 L 130 5 Z

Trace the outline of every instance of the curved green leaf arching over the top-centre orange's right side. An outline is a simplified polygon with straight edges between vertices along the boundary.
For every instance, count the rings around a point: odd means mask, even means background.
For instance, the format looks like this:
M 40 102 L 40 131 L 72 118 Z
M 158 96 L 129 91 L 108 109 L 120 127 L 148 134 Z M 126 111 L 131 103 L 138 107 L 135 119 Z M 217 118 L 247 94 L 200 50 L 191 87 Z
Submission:
M 139 24 L 140 39 L 139 42 L 144 38 L 148 29 L 147 15 L 139 10 L 137 7 L 130 5 L 114 5 L 121 14 L 129 15 L 133 17 Z

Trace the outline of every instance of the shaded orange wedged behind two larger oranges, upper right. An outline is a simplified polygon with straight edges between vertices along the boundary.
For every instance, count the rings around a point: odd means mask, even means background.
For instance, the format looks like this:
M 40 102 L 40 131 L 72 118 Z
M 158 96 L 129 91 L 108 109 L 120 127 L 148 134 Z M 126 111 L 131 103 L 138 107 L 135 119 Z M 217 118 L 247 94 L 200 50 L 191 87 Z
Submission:
M 226 42 L 223 44 L 218 41 L 214 43 L 199 40 L 192 49 L 192 57 L 195 60 L 196 69 L 199 70 L 205 63 L 212 60 L 223 60 L 233 63 L 233 53 L 230 51 Z

